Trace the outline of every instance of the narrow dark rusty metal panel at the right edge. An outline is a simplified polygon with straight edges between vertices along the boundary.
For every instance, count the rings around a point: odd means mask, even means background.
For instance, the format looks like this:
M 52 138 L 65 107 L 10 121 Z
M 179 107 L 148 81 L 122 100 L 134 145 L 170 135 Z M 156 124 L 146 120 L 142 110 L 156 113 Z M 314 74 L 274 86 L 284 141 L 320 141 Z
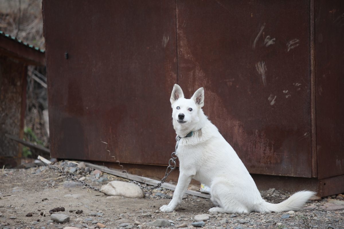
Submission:
M 314 41 L 318 178 L 323 179 L 344 174 L 344 1 L 315 1 Z

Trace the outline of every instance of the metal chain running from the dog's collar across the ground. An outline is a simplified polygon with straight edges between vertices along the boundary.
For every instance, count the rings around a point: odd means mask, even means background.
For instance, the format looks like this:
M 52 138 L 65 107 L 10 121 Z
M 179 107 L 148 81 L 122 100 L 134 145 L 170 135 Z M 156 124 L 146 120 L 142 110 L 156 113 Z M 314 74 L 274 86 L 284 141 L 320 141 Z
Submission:
M 159 184 L 157 185 L 154 185 L 152 187 L 147 187 L 147 186 L 142 186 L 139 182 L 137 181 L 130 181 L 130 183 L 133 183 L 133 184 L 136 184 L 138 185 L 139 187 L 143 188 L 144 190 L 148 190 L 148 191 L 151 191 L 151 190 L 154 190 L 155 188 L 158 188 L 161 186 L 161 184 L 163 184 L 166 180 L 166 178 L 168 177 L 168 175 L 170 175 L 170 173 L 176 168 L 176 159 L 177 159 L 177 149 L 178 149 L 178 145 L 179 145 L 179 141 L 181 139 L 180 136 L 177 136 L 175 138 L 177 140 L 176 144 L 175 144 L 175 150 L 174 152 L 171 154 L 171 159 L 169 160 L 169 166 L 166 168 L 166 172 L 165 172 L 165 176 L 161 179 L 161 181 L 159 182 Z M 96 187 L 93 187 L 92 185 L 89 185 L 87 184 L 86 182 L 84 181 L 80 181 L 77 177 L 74 176 L 74 174 L 71 174 L 71 173 L 68 173 L 68 172 L 65 172 L 63 171 L 61 168 L 57 167 L 56 165 L 53 165 L 53 164 L 48 164 L 48 167 L 50 169 L 54 169 L 54 170 L 58 170 L 60 171 L 62 174 L 66 175 L 69 179 L 73 180 L 73 181 L 77 181 L 79 183 L 82 183 L 83 185 L 85 185 L 86 187 L 94 190 L 94 191 L 97 191 L 97 192 L 101 192 L 100 191 L 100 188 L 96 188 Z

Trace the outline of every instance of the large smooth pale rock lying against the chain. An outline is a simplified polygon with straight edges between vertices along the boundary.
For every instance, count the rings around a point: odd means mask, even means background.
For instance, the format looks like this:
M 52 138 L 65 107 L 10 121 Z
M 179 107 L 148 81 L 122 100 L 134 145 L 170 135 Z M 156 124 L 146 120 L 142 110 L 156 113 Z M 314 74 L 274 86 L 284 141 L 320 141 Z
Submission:
M 144 193 L 139 186 L 123 181 L 111 181 L 103 185 L 100 190 L 109 196 L 124 196 L 130 198 L 144 197 Z

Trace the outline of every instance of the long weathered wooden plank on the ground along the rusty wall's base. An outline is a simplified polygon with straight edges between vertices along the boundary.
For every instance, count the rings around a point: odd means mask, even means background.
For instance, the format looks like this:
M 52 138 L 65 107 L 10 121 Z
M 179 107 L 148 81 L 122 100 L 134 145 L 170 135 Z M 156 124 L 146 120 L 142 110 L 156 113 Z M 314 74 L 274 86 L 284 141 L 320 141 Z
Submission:
M 122 178 L 126 178 L 128 180 L 137 181 L 137 182 L 144 183 L 144 184 L 156 185 L 160 182 L 160 181 L 150 179 L 150 178 L 147 178 L 144 176 L 138 176 L 138 175 L 125 173 L 125 172 L 122 172 L 121 170 L 118 170 L 118 169 L 110 169 L 110 168 L 105 167 L 103 165 L 96 165 L 96 164 L 92 164 L 92 163 L 88 163 L 88 162 L 85 162 L 85 164 L 89 168 L 98 169 L 98 170 L 105 172 L 105 173 L 120 176 Z M 173 191 L 175 190 L 175 185 L 169 184 L 169 183 L 163 183 L 163 184 L 161 184 L 161 187 L 169 189 L 169 190 L 173 190 Z M 193 196 L 199 196 L 199 197 L 210 199 L 210 195 L 205 194 L 205 193 L 201 193 L 201 192 L 197 192 L 197 191 L 187 190 L 185 193 L 193 195 Z

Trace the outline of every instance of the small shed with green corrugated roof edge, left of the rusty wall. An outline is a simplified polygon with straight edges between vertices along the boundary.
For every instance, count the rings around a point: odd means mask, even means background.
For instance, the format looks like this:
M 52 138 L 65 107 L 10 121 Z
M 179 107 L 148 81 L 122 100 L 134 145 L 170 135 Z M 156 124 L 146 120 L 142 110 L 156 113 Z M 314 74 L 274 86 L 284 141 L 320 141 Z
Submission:
M 28 65 L 45 65 L 44 50 L 0 31 L 0 165 L 20 164 L 24 136 Z

